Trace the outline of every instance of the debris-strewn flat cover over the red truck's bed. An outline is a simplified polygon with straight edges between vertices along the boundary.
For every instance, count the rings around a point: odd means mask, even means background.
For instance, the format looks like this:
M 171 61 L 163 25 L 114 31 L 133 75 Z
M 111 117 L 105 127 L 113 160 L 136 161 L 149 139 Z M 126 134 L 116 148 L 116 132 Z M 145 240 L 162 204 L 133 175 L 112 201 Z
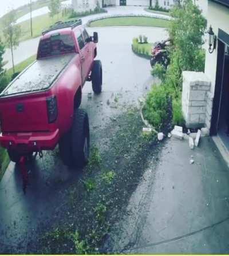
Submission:
M 76 53 L 36 60 L 17 76 L 0 97 L 48 89 Z

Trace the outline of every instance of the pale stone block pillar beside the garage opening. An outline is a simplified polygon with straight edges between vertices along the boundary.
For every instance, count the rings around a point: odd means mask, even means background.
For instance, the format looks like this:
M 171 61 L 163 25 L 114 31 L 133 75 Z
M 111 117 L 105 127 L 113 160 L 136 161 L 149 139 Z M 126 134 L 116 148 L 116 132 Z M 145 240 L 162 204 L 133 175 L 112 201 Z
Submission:
M 206 127 L 210 88 L 211 81 L 203 72 L 183 72 L 182 111 L 188 128 Z

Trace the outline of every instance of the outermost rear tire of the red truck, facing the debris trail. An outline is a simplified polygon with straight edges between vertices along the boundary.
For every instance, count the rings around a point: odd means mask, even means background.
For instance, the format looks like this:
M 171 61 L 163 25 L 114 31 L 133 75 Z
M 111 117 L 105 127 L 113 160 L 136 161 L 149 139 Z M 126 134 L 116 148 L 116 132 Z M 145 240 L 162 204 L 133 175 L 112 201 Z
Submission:
M 72 160 L 76 167 L 84 167 L 88 163 L 90 132 L 88 114 L 83 109 L 74 112 L 72 125 Z

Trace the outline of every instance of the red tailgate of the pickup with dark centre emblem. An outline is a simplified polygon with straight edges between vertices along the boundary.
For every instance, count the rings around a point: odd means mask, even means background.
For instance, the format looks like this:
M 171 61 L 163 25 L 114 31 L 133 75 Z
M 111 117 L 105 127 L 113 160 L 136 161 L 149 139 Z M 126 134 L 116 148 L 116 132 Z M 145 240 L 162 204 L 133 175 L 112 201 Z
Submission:
M 46 93 L 0 98 L 2 132 L 49 131 Z

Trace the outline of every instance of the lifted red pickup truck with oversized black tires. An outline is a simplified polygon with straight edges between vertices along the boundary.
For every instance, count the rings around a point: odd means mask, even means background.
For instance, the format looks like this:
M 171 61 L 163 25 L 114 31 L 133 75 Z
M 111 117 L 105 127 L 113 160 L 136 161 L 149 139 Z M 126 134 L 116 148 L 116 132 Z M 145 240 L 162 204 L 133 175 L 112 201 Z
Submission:
M 57 144 L 66 165 L 88 161 L 89 121 L 79 107 L 85 81 L 101 92 L 102 66 L 94 60 L 98 35 L 81 24 L 57 22 L 44 31 L 37 60 L 0 94 L 0 143 L 13 162 Z

